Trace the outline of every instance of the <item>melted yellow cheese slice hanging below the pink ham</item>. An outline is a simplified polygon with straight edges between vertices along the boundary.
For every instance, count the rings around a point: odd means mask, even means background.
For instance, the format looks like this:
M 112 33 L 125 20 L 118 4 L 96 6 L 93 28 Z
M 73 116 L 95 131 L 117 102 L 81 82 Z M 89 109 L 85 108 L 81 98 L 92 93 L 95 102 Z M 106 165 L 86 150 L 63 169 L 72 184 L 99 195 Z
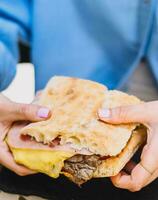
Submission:
M 74 155 L 65 151 L 18 149 L 13 147 L 11 147 L 11 151 L 17 163 L 53 178 L 58 178 L 64 166 L 64 160 Z

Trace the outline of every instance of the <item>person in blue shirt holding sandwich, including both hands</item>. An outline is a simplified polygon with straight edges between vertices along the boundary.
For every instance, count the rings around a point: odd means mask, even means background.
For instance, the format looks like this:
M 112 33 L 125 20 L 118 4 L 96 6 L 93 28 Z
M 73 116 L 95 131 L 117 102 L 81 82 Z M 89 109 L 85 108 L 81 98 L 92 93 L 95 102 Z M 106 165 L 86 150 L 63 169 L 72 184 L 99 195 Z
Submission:
M 142 58 L 147 58 L 155 80 L 157 71 L 157 6 L 150 2 L 125 1 L 0 1 L 0 90 L 15 75 L 18 42 L 31 46 L 36 91 L 53 75 L 94 80 L 108 88 L 127 83 Z M 120 12 L 121 11 L 121 12 Z M 128 16 L 128 17 L 127 17 Z M 141 162 L 127 164 L 131 175 L 120 172 L 115 186 L 138 191 L 158 176 L 158 102 L 99 110 L 108 123 L 143 123 L 148 127 Z M 4 138 L 15 121 L 41 121 L 48 108 L 23 105 L 0 96 L 0 163 L 19 175 L 34 173 L 17 165 Z M 17 127 L 18 128 L 18 127 Z

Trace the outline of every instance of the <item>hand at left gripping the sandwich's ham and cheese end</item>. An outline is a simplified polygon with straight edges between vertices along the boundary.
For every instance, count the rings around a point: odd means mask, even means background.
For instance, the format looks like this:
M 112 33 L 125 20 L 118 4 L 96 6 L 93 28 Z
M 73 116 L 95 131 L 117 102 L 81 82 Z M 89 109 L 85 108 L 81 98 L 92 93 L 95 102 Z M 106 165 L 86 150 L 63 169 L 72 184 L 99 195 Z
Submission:
M 50 110 L 34 104 L 20 104 L 10 101 L 0 94 L 0 164 L 20 176 L 34 173 L 15 163 L 5 142 L 5 137 L 16 121 L 42 121 L 49 118 Z

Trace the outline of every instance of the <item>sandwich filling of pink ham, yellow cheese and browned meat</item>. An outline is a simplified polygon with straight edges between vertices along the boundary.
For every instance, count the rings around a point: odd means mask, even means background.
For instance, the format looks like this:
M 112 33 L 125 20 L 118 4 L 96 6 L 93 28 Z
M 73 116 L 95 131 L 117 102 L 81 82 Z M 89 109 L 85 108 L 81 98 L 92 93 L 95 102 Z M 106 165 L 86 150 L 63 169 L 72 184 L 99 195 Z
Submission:
M 73 149 L 70 143 L 61 145 L 60 141 L 60 137 L 57 137 L 49 144 L 43 144 L 30 135 L 17 133 L 16 130 L 7 137 L 17 163 L 53 178 L 67 174 L 78 185 L 90 180 L 99 165 L 111 158 L 93 154 L 88 149 Z

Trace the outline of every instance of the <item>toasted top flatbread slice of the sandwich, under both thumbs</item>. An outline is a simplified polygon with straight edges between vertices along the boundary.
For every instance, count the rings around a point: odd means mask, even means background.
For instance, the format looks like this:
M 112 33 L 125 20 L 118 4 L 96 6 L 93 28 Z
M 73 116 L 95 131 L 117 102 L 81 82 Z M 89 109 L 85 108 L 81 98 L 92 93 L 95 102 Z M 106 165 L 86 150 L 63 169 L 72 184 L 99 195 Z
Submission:
M 52 117 L 31 123 L 21 134 L 29 134 L 45 144 L 60 136 L 63 145 L 72 142 L 72 147 L 79 150 L 85 148 L 92 154 L 116 156 L 125 148 L 137 124 L 103 123 L 98 120 L 98 109 L 139 103 L 135 96 L 109 91 L 96 82 L 55 76 L 39 101 L 52 110 Z

